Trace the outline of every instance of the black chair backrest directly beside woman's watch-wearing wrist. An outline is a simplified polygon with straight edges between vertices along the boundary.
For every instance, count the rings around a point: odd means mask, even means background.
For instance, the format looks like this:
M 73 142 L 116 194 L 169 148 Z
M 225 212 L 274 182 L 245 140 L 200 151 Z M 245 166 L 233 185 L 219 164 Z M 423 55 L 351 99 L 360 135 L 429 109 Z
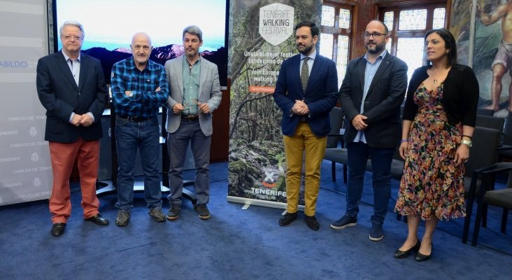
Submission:
M 466 176 L 471 177 L 473 170 L 494 165 L 498 158 L 498 145 L 501 132 L 487 127 L 475 127 L 473 146 L 469 150 L 466 162 Z

